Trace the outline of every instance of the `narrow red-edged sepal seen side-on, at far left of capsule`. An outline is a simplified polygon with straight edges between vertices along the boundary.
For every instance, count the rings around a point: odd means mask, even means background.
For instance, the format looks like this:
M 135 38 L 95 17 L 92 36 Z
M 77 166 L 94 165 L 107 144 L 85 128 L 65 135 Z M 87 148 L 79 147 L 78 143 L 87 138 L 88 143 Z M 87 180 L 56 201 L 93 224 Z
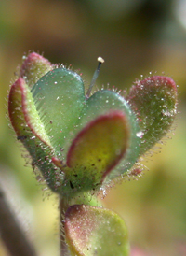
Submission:
M 50 189 L 58 192 L 62 177 L 51 162 L 54 151 L 37 115 L 32 94 L 22 78 L 19 78 L 10 89 L 8 112 L 18 140 L 32 157 L 33 166 L 41 170 Z

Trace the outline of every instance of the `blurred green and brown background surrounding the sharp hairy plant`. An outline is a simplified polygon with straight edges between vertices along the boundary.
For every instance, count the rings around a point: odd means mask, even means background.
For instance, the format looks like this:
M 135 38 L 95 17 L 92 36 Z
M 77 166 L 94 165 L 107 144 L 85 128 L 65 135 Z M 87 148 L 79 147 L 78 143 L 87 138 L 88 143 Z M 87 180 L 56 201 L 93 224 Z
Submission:
M 145 158 L 149 171 L 139 181 L 116 184 L 104 202 L 126 220 L 133 247 L 152 256 L 186 255 L 186 1 L 0 1 L 0 183 L 39 255 L 59 255 L 58 200 L 48 200 L 24 166 L 6 119 L 7 91 L 29 50 L 73 64 L 87 84 L 98 56 L 105 59 L 98 86 L 124 89 L 150 71 L 179 84 L 172 139 Z M 0 242 L 0 256 L 7 255 Z

